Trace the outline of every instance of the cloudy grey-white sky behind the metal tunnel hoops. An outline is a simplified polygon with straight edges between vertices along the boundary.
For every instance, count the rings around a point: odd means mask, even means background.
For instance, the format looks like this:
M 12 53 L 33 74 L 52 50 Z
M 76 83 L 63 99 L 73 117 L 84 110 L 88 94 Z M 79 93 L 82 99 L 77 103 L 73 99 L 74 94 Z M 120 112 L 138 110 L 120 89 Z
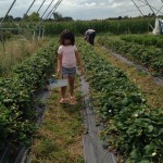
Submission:
M 5 15 L 13 1 L 14 0 L 0 0 L 0 17 Z M 16 0 L 9 15 L 22 17 L 33 1 L 34 0 Z M 36 0 L 28 14 L 36 12 L 42 1 L 43 0 Z M 46 0 L 39 12 L 40 15 L 42 15 L 51 1 L 52 0 Z M 140 1 L 145 2 L 146 0 L 135 0 L 138 5 L 143 5 L 145 3 Z M 50 11 L 57 2 L 58 0 L 54 0 L 48 11 Z M 162 0 L 148 0 L 148 2 L 158 10 L 163 5 Z M 151 13 L 149 7 L 141 7 L 140 10 L 143 14 Z M 163 10 L 161 11 L 163 13 Z M 131 0 L 63 0 L 58 7 L 57 12 L 61 13 L 62 16 L 71 16 L 74 20 L 103 20 L 108 17 L 140 15 L 140 12 L 138 12 Z M 154 10 L 154 12 L 156 12 L 156 10 Z

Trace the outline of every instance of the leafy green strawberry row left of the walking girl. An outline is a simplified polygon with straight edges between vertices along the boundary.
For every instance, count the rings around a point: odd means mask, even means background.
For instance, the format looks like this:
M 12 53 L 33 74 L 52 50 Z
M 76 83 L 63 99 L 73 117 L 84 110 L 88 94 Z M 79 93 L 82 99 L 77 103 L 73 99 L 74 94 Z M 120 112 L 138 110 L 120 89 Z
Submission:
M 0 150 L 8 143 L 25 146 L 36 129 L 36 92 L 57 63 L 54 42 L 0 78 Z

